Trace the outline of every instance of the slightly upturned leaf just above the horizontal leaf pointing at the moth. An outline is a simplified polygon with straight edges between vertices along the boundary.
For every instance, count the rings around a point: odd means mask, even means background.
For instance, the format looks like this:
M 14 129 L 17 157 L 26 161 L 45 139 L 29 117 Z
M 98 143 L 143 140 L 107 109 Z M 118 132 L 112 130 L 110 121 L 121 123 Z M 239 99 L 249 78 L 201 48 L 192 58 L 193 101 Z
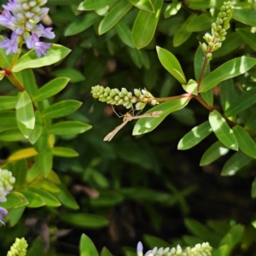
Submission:
M 55 103 L 54 105 L 46 108 L 42 113 L 44 119 L 57 119 L 75 112 L 82 105 L 82 102 L 67 100 Z

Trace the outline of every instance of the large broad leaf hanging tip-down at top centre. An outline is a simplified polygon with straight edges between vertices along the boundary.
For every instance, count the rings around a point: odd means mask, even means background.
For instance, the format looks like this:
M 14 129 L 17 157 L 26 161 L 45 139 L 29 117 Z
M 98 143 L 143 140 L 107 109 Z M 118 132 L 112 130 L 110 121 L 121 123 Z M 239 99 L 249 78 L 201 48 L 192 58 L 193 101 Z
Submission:
M 152 0 L 154 13 L 140 10 L 134 21 L 131 38 L 137 49 L 147 46 L 154 38 L 163 0 Z

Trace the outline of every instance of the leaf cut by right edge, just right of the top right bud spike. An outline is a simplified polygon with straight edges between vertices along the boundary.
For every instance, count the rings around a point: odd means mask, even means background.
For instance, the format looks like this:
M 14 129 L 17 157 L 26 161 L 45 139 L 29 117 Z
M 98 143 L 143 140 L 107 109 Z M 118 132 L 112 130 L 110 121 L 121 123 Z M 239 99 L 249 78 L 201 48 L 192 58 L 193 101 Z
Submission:
M 256 10 L 254 9 L 234 9 L 232 18 L 249 26 L 256 26 Z

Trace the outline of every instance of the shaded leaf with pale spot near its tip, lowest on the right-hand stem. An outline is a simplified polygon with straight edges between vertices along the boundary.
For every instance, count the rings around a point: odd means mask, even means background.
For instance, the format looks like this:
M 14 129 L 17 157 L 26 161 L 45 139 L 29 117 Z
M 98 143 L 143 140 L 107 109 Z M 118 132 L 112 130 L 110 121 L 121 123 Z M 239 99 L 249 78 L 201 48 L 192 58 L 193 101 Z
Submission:
M 229 160 L 227 160 L 221 171 L 222 176 L 235 175 L 243 166 L 247 166 L 253 160 L 247 154 L 239 151 L 233 154 Z

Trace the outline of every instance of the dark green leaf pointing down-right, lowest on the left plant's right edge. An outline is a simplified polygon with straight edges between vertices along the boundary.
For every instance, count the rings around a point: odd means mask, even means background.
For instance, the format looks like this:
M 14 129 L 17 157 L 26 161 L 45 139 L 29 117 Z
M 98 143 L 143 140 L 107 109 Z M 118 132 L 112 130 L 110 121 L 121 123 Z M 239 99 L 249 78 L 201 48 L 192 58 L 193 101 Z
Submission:
M 64 184 L 55 184 L 55 186 L 60 189 L 59 192 L 53 193 L 55 197 L 61 202 L 61 204 L 65 207 L 78 210 L 79 205 L 73 198 L 73 195 L 70 194 L 68 189 Z

